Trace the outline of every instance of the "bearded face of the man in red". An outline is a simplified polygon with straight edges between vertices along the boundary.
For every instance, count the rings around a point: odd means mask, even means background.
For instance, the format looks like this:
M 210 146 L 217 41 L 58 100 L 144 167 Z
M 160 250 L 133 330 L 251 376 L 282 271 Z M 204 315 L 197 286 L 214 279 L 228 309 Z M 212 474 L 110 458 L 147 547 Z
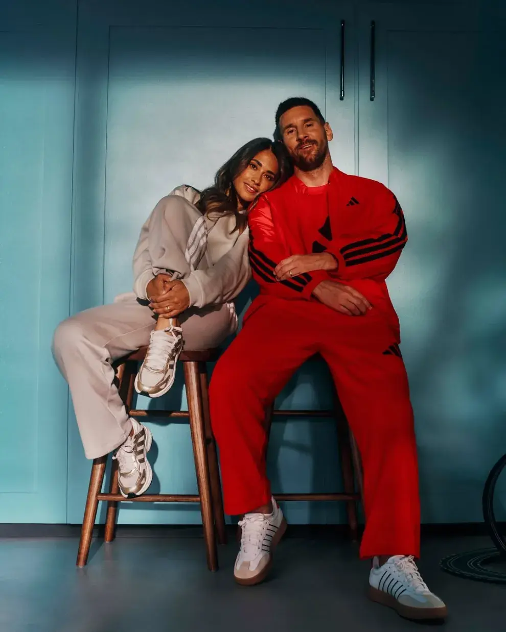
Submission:
M 314 171 L 323 164 L 328 154 L 332 130 L 321 123 L 309 106 L 295 106 L 280 118 L 281 138 L 301 171 Z

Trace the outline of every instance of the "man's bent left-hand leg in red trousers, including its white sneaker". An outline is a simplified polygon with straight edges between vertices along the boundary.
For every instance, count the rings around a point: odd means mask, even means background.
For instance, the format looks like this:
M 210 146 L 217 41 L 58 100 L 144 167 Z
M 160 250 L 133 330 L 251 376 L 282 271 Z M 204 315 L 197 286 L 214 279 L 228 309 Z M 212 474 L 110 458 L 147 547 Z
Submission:
M 290 375 L 316 352 L 316 336 L 304 324 L 305 301 L 258 298 L 257 311 L 214 368 L 209 391 L 211 423 L 219 446 L 225 511 L 245 514 L 235 563 L 238 583 L 262 581 L 271 546 L 285 528 L 266 475 L 266 407 Z M 266 301 L 261 305 L 261 301 Z M 254 310 L 256 306 L 252 306 Z

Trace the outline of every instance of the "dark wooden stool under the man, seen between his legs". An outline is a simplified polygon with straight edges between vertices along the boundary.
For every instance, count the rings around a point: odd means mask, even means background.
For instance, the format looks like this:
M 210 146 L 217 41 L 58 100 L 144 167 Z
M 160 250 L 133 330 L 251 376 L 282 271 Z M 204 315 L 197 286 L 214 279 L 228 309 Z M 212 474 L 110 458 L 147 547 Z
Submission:
M 364 483 L 362 463 L 357 442 L 349 429 L 342 406 L 335 395 L 333 410 L 274 410 L 272 406 L 266 413 L 266 429 L 269 437 L 273 416 L 283 417 L 334 417 L 337 424 L 338 444 L 341 457 L 341 471 L 343 476 L 343 492 L 333 494 L 274 494 L 278 501 L 346 501 L 350 535 L 354 542 L 359 539 L 359 523 L 357 518 L 357 501 L 364 506 Z M 355 492 L 355 477 L 358 493 Z

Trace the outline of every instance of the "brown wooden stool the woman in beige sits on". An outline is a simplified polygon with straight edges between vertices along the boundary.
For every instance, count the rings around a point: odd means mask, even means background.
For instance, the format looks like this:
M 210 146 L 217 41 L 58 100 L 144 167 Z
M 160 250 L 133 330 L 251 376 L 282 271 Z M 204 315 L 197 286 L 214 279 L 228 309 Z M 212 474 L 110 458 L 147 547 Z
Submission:
M 106 454 L 106 456 L 94 459 L 79 542 L 77 566 L 85 566 L 87 562 L 100 501 L 108 501 L 104 538 L 106 542 L 112 542 L 114 539 L 118 502 L 200 502 L 204 540 L 206 542 L 207 566 L 209 570 L 216 571 L 218 569 L 218 554 L 216 551 L 215 528 L 219 544 L 225 544 L 226 534 L 216 444 L 209 418 L 206 362 L 216 360 L 218 351 L 216 349 L 183 351 L 179 356 L 179 362 L 183 363 L 185 372 L 188 411 L 132 410 L 133 383 L 139 369 L 139 363 L 144 360 L 146 351 L 147 348 L 143 347 L 139 351 L 134 351 L 114 363 L 121 399 L 125 403 L 128 415 L 134 418 L 189 418 L 199 494 L 143 494 L 125 499 L 119 493 L 118 461 L 116 460 L 113 460 L 109 493 L 102 494 L 102 483 L 109 455 Z

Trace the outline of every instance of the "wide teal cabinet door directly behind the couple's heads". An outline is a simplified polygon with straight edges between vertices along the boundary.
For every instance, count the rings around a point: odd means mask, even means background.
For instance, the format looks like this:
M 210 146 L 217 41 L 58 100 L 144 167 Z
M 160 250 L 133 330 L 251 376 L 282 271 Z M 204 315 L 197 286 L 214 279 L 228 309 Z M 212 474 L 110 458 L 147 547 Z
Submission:
M 340 100 L 340 23 L 351 11 L 304 3 L 80 4 L 75 153 L 73 310 L 132 288 L 132 254 L 149 212 L 182 183 L 203 188 L 250 138 L 270 137 L 278 103 L 307 95 L 333 121 L 336 164 L 353 171 L 352 47 Z M 317 3 L 318 4 L 318 3 Z M 186 402 L 180 381 L 170 403 Z M 142 404 L 149 404 L 148 400 Z M 151 404 L 152 405 L 152 404 Z M 154 428 L 162 489 L 196 489 L 188 425 Z M 70 425 L 69 520 L 82 519 L 89 463 Z M 302 455 L 301 458 L 305 458 Z M 314 458 L 313 455 L 310 457 Z M 307 469 L 311 480 L 310 468 Z M 199 521 L 188 511 L 139 505 L 132 522 Z

